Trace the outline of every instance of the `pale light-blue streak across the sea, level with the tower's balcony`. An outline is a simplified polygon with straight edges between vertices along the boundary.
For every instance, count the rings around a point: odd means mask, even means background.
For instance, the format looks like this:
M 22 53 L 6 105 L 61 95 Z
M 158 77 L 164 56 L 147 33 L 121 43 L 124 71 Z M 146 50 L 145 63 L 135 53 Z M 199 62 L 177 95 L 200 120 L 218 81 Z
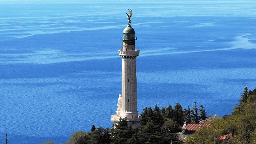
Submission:
M 249 41 L 250 39 L 245 38 L 245 36 L 255 36 L 255 34 L 244 34 L 241 36 L 236 36 L 234 38 L 235 39 L 234 41 L 228 42 L 229 44 L 233 45 L 232 47 L 228 47 L 228 48 L 197 50 L 197 51 L 177 51 L 177 49 L 175 48 L 157 48 L 157 49 L 143 50 L 141 51 L 140 56 L 226 51 L 226 50 L 233 50 L 233 49 L 255 49 L 256 44 L 251 43 Z M 110 58 L 117 58 L 117 57 L 118 57 L 117 52 L 68 53 L 68 52 L 63 52 L 61 50 L 41 50 L 41 51 L 34 51 L 33 53 L 0 54 L 0 64 L 11 64 L 11 63 L 49 64 L 49 63 L 70 62 L 70 61 L 110 59 Z

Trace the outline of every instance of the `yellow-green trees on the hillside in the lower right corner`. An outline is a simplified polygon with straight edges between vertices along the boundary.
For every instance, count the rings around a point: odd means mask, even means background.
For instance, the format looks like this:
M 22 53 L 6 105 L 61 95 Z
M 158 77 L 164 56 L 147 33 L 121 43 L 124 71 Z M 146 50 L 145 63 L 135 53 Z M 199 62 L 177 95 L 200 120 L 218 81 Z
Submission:
M 234 109 L 233 115 L 226 119 L 209 116 L 204 123 L 210 123 L 211 127 L 204 127 L 187 137 L 186 143 L 232 143 L 251 144 L 256 143 L 256 89 L 248 91 L 244 88 L 240 99 L 240 105 Z M 202 107 L 201 107 L 202 108 Z M 234 137 L 228 137 L 220 141 L 219 137 L 234 132 Z

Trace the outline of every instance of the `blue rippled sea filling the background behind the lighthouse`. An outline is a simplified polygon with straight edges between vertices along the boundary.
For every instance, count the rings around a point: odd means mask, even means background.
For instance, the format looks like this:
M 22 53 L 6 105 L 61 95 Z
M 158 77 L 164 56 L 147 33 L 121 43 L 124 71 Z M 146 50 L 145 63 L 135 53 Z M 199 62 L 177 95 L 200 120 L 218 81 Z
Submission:
M 0 143 L 68 141 L 111 127 L 132 8 L 138 111 L 196 101 L 229 114 L 256 87 L 254 1 L 0 0 Z

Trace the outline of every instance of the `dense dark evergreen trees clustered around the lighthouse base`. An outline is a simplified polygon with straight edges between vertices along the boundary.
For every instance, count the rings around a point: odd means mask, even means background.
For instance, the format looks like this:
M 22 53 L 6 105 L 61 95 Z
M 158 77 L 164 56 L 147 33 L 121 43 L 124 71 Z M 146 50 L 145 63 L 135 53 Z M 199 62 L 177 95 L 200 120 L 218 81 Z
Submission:
M 190 109 L 182 110 L 182 106 L 176 103 L 174 109 L 169 104 L 167 108 L 159 108 L 157 104 L 154 109 L 145 107 L 140 114 L 142 116 L 141 127 L 132 129 L 132 124 L 128 125 L 127 119 L 121 118 L 115 128 L 108 129 L 94 125 L 91 132 L 75 132 L 71 135 L 69 143 L 71 144 L 120 144 L 120 143 L 157 143 L 165 144 L 178 141 L 172 130 L 177 130 L 180 124 L 183 124 L 184 118 L 190 119 Z M 175 120 L 174 120 L 175 118 Z M 168 128 L 166 130 L 165 128 Z

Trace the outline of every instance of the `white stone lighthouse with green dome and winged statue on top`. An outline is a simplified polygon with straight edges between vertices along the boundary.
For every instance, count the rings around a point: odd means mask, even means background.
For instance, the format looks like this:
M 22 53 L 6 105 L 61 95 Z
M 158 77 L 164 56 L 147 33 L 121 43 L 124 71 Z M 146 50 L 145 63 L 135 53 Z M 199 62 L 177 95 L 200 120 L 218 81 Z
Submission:
M 127 13 L 126 13 L 127 14 Z M 140 51 L 135 49 L 135 31 L 131 27 L 130 17 L 132 11 L 127 14 L 129 23 L 123 31 L 123 49 L 119 50 L 122 57 L 122 95 L 119 95 L 116 114 L 111 116 L 111 121 L 118 124 L 119 118 L 127 119 L 128 125 L 132 128 L 140 126 L 142 117 L 137 111 L 137 76 L 136 76 L 136 57 Z

